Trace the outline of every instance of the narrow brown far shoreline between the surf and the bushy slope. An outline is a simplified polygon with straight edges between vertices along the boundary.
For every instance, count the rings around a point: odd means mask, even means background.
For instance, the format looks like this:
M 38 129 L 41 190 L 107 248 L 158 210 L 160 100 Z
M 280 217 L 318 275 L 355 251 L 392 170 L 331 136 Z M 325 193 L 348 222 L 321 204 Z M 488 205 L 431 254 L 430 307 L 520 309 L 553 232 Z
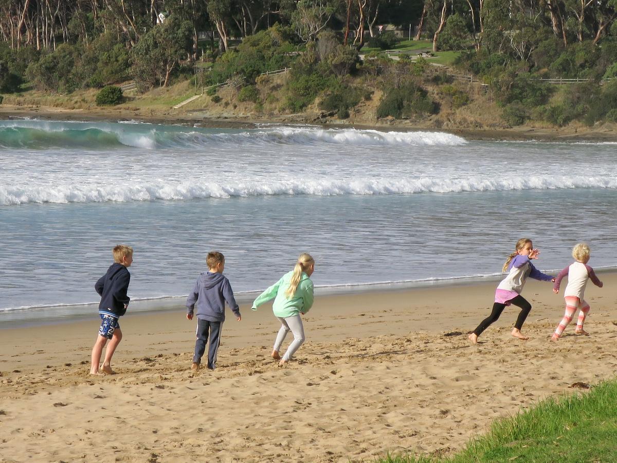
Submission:
M 544 128 L 519 126 L 515 128 L 466 128 L 466 127 L 426 127 L 424 125 L 408 123 L 405 120 L 394 123 L 342 123 L 342 122 L 315 122 L 304 120 L 297 116 L 280 116 L 260 118 L 246 117 L 209 117 L 204 112 L 191 111 L 180 114 L 141 114 L 138 111 L 128 110 L 83 110 L 59 109 L 51 107 L 23 107 L 14 105 L 0 106 L 0 120 L 7 119 L 43 119 L 59 121 L 81 122 L 119 122 L 136 120 L 155 124 L 198 125 L 204 128 L 258 128 L 260 124 L 279 125 L 315 125 L 324 128 L 357 128 L 360 130 L 379 131 L 431 131 L 450 133 L 476 141 L 544 141 L 549 143 L 617 143 L 617 131 L 610 128 L 585 129 L 579 132 L 578 128 Z

